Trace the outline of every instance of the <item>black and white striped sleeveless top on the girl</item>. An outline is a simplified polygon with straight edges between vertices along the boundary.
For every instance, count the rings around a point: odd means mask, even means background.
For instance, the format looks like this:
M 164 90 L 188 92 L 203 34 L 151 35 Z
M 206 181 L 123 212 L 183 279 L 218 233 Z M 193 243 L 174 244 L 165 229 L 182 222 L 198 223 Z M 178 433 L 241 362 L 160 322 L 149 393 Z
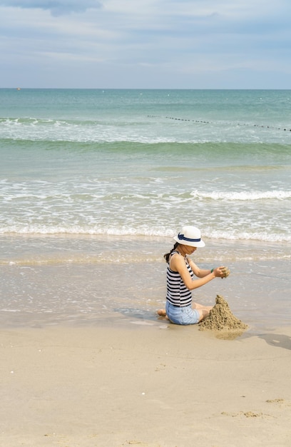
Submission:
M 178 251 L 173 251 L 171 256 L 173 256 L 174 253 L 178 253 Z M 187 258 L 185 258 L 185 263 L 191 278 L 193 278 L 194 273 L 187 261 Z M 173 306 L 178 307 L 190 306 L 192 302 L 191 291 L 185 286 L 180 273 L 170 269 L 170 260 L 167 270 L 167 300 L 173 304 Z

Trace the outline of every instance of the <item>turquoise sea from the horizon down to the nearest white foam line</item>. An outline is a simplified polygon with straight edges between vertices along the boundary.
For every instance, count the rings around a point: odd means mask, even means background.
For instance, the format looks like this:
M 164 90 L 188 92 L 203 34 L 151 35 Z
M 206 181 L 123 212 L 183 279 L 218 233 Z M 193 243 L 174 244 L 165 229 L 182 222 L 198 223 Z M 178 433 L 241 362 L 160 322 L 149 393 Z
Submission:
M 2 234 L 168 236 L 195 222 L 209 238 L 290 241 L 290 91 L 0 98 Z

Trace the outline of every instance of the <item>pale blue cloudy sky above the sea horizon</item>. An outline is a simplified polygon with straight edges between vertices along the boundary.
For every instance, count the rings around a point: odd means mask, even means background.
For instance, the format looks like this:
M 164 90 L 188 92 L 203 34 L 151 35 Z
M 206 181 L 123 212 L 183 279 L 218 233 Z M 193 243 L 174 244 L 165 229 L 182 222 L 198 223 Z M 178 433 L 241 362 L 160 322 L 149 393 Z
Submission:
M 0 0 L 0 88 L 291 89 L 290 0 Z

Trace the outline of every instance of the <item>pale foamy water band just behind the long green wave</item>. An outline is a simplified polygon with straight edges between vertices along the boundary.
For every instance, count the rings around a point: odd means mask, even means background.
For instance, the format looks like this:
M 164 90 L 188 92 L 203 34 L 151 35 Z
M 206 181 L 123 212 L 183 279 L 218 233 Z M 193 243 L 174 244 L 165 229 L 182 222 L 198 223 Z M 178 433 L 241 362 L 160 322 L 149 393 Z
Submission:
M 183 121 L 183 124 L 179 121 Z M 164 116 L 141 114 L 123 121 L 118 119 L 39 119 L 36 117 L 0 120 L 0 138 L 31 141 L 116 142 L 143 144 L 241 142 L 290 144 L 291 132 L 265 126 L 237 126 L 233 122 L 167 120 Z

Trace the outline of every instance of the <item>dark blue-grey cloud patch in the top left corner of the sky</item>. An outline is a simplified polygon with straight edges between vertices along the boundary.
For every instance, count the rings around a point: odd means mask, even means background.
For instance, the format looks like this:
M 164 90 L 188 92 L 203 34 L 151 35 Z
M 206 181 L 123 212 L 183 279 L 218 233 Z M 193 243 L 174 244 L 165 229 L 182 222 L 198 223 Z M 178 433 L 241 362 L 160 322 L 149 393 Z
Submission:
M 87 9 L 100 9 L 98 0 L 1 0 L 0 5 L 21 9 L 44 9 L 52 16 L 63 16 L 71 13 L 82 13 Z

